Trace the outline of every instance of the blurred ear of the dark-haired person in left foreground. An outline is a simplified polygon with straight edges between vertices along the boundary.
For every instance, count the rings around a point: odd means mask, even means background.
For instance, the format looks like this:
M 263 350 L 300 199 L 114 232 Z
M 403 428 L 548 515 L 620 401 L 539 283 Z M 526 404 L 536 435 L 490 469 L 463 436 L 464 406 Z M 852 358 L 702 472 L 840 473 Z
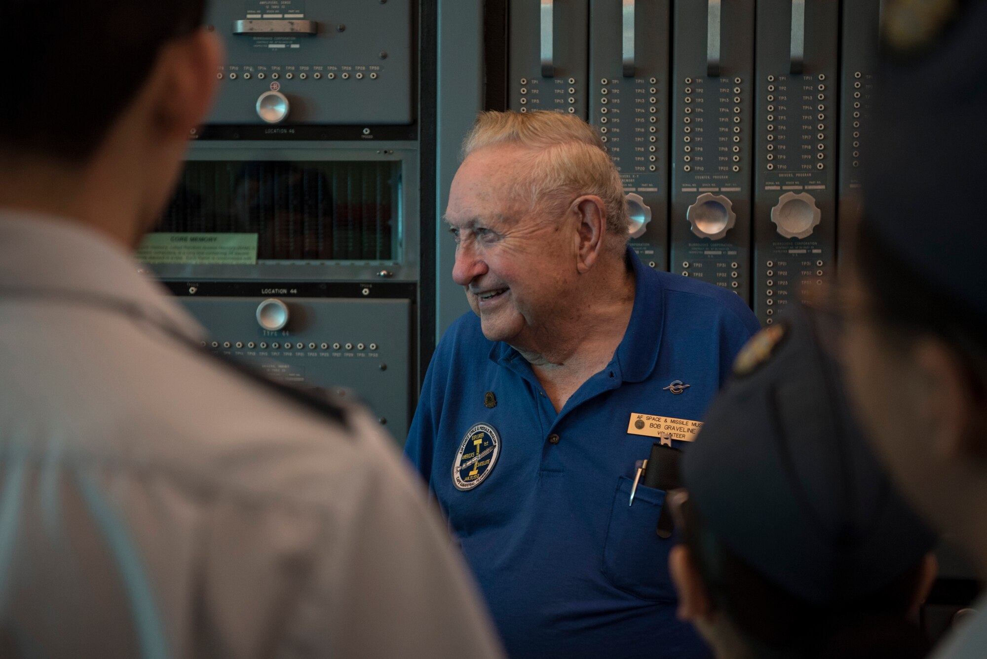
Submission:
M 204 29 L 162 49 L 152 103 L 168 137 L 188 139 L 190 130 L 205 119 L 219 85 L 216 73 L 222 58 L 222 41 Z

